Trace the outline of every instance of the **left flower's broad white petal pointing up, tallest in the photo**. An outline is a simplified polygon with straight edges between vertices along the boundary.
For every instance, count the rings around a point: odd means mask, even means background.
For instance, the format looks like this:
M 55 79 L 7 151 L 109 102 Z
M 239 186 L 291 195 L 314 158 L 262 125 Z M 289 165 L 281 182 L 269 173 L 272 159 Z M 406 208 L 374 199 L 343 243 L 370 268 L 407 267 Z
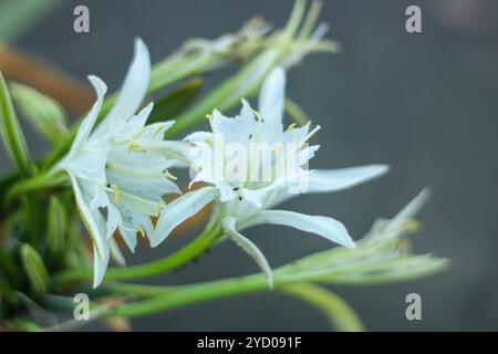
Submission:
M 141 39 L 137 39 L 135 40 L 134 58 L 121 88 L 120 96 L 97 131 L 100 133 L 106 132 L 108 127 L 115 126 L 120 119 L 126 119 L 133 116 L 144 101 L 149 81 L 151 56 L 145 43 Z

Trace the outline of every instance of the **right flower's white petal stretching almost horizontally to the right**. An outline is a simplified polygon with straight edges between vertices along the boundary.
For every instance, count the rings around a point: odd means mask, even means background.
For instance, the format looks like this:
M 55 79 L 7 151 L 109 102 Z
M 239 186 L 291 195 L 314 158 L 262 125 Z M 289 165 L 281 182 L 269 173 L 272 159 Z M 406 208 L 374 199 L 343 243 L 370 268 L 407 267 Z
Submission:
M 369 165 L 314 170 L 309 175 L 308 192 L 338 191 L 354 187 L 388 171 L 387 165 Z

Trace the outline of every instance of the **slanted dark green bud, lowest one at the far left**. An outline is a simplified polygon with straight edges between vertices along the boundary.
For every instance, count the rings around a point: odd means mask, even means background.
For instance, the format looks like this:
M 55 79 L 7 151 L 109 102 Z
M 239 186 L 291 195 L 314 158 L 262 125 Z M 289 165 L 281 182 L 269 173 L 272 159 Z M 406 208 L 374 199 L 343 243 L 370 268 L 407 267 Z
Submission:
M 21 261 L 31 289 L 35 293 L 46 292 L 49 273 L 37 250 L 30 244 L 23 243 L 21 246 Z

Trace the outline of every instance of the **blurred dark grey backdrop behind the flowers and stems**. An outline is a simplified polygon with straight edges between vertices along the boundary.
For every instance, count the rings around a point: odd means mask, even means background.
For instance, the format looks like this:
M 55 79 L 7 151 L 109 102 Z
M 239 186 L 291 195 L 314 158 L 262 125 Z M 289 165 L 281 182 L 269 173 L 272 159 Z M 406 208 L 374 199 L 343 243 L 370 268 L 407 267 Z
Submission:
M 77 4 L 90 8 L 89 34 L 73 32 Z M 422 8 L 423 33 L 405 31 L 409 4 Z M 97 74 L 117 88 L 137 35 L 158 61 L 190 37 L 215 38 L 257 14 L 282 25 L 291 8 L 290 0 L 62 1 L 14 44 L 75 76 Z M 392 171 L 367 185 L 302 197 L 287 207 L 336 217 L 357 238 L 374 219 L 393 216 L 428 186 L 434 197 L 421 215 L 423 229 L 414 247 L 453 261 L 447 272 L 421 281 L 333 290 L 372 331 L 498 330 L 498 3 L 325 1 L 321 18 L 343 52 L 309 56 L 288 79 L 290 96 L 323 127 L 311 168 L 385 163 Z M 220 77 L 214 75 L 210 82 Z M 29 140 L 39 156 L 43 154 L 41 138 L 31 134 Z M 2 153 L 0 169 L 6 168 L 11 166 Z M 255 228 L 247 235 L 274 267 L 330 246 L 282 227 Z M 177 237 L 154 250 L 143 246 L 128 259 L 154 259 L 188 239 Z M 251 259 L 227 242 L 198 263 L 154 282 L 255 271 Z M 405 319 L 409 292 L 422 295 L 422 321 Z M 314 309 L 278 293 L 211 301 L 133 324 L 138 331 L 329 330 Z

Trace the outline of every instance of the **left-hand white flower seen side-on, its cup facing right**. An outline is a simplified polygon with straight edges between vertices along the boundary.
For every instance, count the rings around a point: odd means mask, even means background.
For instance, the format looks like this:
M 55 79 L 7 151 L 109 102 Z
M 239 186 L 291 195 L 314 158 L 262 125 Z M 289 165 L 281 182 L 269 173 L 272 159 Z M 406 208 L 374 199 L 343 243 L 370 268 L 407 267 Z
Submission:
M 137 232 L 152 235 L 151 217 L 158 216 L 164 207 L 162 197 L 179 192 L 168 173 L 176 163 L 172 149 L 175 143 L 164 140 L 164 132 L 174 122 L 146 126 L 153 104 L 136 114 L 149 77 L 148 50 L 137 40 L 121 93 L 94 128 L 107 88 L 98 77 L 89 76 L 97 100 L 82 122 L 70 153 L 58 165 L 71 178 L 76 205 L 93 239 L 94 287 L 103 280 L 110 252 L 123 259 L 113 238 L 115 230 L 134 251 Z

